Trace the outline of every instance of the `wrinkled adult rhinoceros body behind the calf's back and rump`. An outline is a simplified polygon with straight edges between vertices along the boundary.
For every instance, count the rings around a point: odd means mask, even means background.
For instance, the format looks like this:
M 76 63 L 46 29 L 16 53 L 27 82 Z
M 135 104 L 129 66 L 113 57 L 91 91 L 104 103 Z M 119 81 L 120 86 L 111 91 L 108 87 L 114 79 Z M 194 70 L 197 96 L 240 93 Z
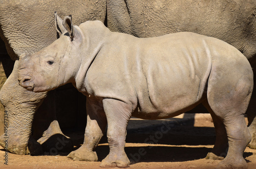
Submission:
M 136 37 L 154 37 L 176 32 L 195 32 L 216 37 L 236 47 L 249 60 L 251 66 L 256 67 L 256 1 L 107 0 L 106 2 L 108 28 L 111 31 Z M 254 75 L 256 75 L 255 70 L 254 68 Z M 252 149 L 256 149 L 255 105 L 256 90 L 252 93 L 247 111 L 248 128 L 252 135 L 252 141 L 248 146 Z M 208 154 L 207 158 L 219 157 Z

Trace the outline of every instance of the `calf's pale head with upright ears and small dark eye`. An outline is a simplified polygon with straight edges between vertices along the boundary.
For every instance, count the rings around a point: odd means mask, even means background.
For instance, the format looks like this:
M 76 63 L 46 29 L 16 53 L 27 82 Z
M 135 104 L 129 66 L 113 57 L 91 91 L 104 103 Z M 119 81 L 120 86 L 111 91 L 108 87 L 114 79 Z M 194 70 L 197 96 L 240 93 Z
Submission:
M 76 73 L 75 64 L 82 34 L 78 27 L 72 25 L 72 17 L 63 20 L 55 13 L 55 26 L 59 39 L 32 55 L 23 54 L 19 58 L 19 84 L 30 91 L 49 91 L 58 86 L 72 82 Z

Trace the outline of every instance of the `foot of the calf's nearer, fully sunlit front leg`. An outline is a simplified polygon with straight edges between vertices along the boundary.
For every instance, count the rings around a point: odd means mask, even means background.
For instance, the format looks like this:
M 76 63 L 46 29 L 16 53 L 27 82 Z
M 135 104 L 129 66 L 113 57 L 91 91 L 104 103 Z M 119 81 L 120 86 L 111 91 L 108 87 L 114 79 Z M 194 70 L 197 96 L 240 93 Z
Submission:
M 128 167 L 130 164 L 130 160 L 126 156 L 126 154 L 121 156 L 116 155 L 108 155 L 106 158 L 104 158 L 100 166 L 101 167 Z

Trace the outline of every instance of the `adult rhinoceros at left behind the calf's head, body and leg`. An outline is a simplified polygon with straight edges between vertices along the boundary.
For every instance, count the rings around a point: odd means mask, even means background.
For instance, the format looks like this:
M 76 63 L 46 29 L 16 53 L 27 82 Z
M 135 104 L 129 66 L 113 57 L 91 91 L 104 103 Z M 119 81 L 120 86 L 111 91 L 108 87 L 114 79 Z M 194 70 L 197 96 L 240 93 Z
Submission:
M 80 24 L 86 20 L 104 21 L 105 8 L 105 1 L 102 0 L 50 0 L 47 2 L 4 0 L 0 2 L 0 36 L 5 42 L 8 54 L 16 60 L 22 53 L 32 54 L 57 39 L 58 35 L 54 29 L 54 11 L 58 11 L 59 15 L 72 13 L 76 16 L 74 22 Z M 38 155 L 42 153 L 39 143 L 42 144 L 49 137 L 53 137 L 53 140 L 45 145 L 46 150 L 49 151 L 59 142 L 55 136 L 60 135 L 59 138 L 62 140 L 63 134 L 55 115 L 54 95 L 54 92 L 28 92 L 19 86 L 17 66 L 14 67 L 0 91 L 1 102 L 9 117 L 9 152 Z M 40 104 L 44 105 L 38 109 Z M 32 123 L 33 137 L 30 137 Z M 1 146 L 5 145 L 4 140 L 4 135 L 2 135 Z M 72 143 L 66 143 L 66 147 L 62 150 L 71 151 L 72 148 Z

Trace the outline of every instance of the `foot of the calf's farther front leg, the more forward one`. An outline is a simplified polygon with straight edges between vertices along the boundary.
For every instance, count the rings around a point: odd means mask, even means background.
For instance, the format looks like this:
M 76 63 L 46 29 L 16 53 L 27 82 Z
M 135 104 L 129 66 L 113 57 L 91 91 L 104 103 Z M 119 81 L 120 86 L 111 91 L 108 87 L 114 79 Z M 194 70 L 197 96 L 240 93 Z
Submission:
M 98 161 L 96 152 L 89 151 L 84 146 L 81 146 L 79 149 L 71 152 L 68 157 L 75 161 Z

